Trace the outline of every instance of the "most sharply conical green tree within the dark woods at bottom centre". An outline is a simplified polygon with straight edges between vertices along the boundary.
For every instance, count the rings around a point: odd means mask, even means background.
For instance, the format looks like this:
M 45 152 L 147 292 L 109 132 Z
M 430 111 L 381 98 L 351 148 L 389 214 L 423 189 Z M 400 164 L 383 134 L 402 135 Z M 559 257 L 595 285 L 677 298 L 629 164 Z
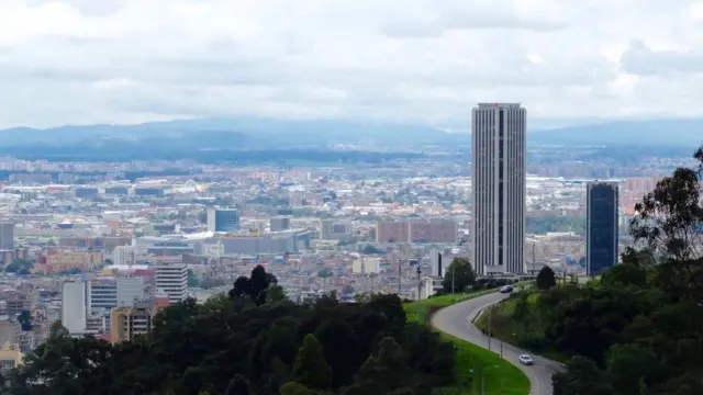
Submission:
M 298 383 L 309 388 L 324 390 L 332 383 L 332 370 L 325 362 L 322 345 L 312 334 L 305 336 L 303 346 L 295 356 L 293 376 Z

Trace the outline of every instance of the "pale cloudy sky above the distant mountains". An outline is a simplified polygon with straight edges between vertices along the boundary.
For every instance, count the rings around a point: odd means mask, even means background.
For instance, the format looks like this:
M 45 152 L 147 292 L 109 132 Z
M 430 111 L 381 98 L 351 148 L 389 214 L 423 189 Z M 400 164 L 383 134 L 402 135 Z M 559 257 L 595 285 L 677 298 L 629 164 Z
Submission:
M 0 127 L 702 115 L 703 1 L 0 0 Z

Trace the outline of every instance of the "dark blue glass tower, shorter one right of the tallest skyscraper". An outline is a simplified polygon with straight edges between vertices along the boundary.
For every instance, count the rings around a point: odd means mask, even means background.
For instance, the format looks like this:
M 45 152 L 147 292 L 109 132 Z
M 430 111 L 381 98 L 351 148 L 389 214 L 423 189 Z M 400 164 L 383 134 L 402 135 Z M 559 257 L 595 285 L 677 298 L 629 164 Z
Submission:
M 617 184 L 589 182 L 585 199 L 585 267 L 589 275 L 598 275 L 617 263 Z

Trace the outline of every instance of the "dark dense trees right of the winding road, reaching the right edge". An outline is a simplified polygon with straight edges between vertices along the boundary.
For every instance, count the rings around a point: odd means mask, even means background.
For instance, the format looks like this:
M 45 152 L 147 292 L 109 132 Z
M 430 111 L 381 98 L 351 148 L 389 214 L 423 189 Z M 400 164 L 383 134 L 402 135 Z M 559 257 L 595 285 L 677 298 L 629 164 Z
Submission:
M 625 251 L 600 286 L 540 296 L 547 336 L 581 356 L 555 375 L 555 395 L 703 394 L 703 147 L 694 158 L 637 204 L 641 249 Z

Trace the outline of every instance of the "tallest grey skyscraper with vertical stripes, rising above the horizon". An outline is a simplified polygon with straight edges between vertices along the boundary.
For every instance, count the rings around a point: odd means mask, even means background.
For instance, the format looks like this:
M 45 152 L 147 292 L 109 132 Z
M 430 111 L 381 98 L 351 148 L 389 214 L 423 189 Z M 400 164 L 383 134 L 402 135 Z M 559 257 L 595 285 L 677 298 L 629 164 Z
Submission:
M 479 103 L 471 120 L 471 263 L 479 274 L 522 273 L 525 240 L 525 128 L 520 103 Z

